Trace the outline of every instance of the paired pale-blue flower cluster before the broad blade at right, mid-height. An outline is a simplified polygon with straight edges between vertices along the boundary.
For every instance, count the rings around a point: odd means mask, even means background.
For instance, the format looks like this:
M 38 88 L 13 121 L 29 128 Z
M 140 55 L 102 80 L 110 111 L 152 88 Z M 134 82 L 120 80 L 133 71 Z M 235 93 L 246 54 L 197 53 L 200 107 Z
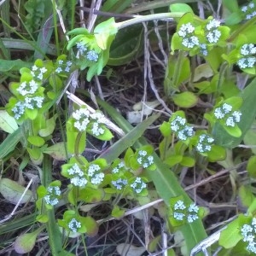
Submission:
M 225 125 L 235 127 L 241 120 L 241 112 L 232 111 L 232 108 L 230 104 L 224 103 L 221 107 L 215 108 L 213 114 L 216 119 L 224 119 Z

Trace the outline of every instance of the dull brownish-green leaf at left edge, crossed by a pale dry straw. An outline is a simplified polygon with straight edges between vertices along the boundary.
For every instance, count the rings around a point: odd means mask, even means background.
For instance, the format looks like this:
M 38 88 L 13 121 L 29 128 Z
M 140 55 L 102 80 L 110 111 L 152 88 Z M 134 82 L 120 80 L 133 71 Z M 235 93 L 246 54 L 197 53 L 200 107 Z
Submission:
M 0 180 L 0 193 L 3 195 L 3 198 L 13 204 L 18 203 L 25 189 L 25 187 L 9 178 L 3 177 Z M 32 191 L 29 189 L 26 191 L 20 203 L 24 204 L 28 201 L 34 201 L 32 197 Z

